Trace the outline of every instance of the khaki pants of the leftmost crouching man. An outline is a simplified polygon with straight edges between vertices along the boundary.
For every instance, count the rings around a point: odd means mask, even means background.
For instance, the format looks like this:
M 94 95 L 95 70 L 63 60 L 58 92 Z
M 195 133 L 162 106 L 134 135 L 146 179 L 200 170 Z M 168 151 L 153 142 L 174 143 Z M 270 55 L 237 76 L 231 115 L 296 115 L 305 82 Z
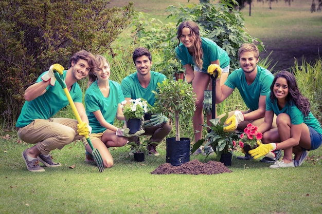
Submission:
M 37 144 L 38 150 L 47 155 L 51 150 L 62 149 L 65 145 L 80 140 L 77 133 L 78 122 L 68 118 L 35 119 L 29 125 L 18 131 L 21 140 Z

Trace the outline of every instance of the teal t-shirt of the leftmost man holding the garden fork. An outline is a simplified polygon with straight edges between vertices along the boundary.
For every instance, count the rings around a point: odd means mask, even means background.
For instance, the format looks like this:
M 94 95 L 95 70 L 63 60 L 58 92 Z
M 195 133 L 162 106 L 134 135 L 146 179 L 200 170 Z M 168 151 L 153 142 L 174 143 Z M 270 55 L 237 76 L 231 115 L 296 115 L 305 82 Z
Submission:
M 66 77 L 67 70 L 63 71 L 63 75 Z M 41 74 L 38 77 L 37 82 L 41 82 L 41 77 L 45 74 Z M 78 83 L 74 83 L 69 91 L 71 98 L 75 103 L 83 102 L 83 93 Z M 32 101 L 26 101 L 22 107 L 21 113 L 16 123 L 16 127 L 24 127 L 30 124 L 35 119 L 49 119 L 55 115 L 61 108 L 68 105 L 67 96 L 62 89 L 58 81 L 54 86 L 47 86 L 47 91 Z

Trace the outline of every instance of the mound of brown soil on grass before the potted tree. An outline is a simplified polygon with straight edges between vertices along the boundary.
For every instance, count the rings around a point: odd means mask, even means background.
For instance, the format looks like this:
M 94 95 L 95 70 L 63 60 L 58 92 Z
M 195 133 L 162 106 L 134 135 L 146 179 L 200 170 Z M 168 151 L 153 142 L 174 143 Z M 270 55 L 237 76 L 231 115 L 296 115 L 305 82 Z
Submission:
M 202 163 L 198 159 L 194 159 L 181 166 L 172 166 L 169 163 L 158 166 L 151 174 L 219 174 L 231 172 L 223 163 L 216 161 L 208 161 Z

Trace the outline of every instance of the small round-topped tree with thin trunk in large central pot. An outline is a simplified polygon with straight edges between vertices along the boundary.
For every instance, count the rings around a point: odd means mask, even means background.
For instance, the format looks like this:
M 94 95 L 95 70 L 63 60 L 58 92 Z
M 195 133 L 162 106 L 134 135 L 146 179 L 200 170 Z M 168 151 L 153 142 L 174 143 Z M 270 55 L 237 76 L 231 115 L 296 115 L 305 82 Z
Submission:
M 195 93 L 191 84 L 183 80 L 164 80 L 158 83 L 155 94 L 155 107 L 172 122 L 175 121 L 175 140 L 180 141 L 180 115 L 188 124 L 195 111 Z

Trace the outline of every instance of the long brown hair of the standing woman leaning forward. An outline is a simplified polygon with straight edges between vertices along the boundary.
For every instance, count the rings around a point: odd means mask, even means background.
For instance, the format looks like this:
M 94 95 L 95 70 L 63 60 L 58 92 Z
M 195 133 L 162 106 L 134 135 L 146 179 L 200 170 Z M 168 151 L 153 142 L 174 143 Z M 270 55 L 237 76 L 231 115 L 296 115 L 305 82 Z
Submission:
M 179 40 L 178 46 L 180 45 L 180 36 L 182 34 L 182 29 L 183 28 L 189 28 L 190 29 L 190 33 L 191 36 L 194 39 L 194 43 L 193 43 L 193 49 L 194 49 L 194 53 L 193 53 L 193 62 L 194 64 L 199 67 L 200 69 L 202 69 L 202 58 L 203 58 L 203 50 L 201 48 L 201 37 L 200 37 L 200 33 L 199 33 L 199 26 L 192 21 L 185 21 L 183 23 L 181 23 L 178 27 L 177 30 L 177 38 Z

